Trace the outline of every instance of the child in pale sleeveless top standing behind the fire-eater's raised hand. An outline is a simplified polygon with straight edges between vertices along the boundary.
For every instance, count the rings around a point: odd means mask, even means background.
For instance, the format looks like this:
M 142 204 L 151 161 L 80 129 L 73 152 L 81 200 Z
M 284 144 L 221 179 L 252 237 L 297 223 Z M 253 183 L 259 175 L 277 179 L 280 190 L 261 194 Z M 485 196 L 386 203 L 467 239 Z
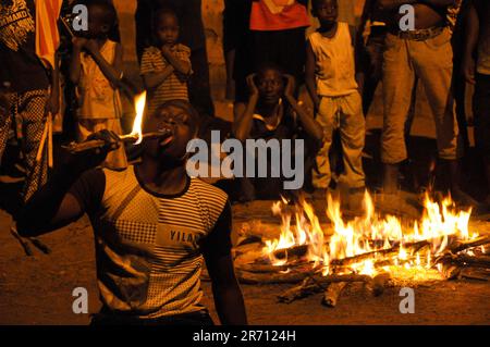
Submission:
M 122 134 L 121 99 L 115 86 L 122 76 L 122 47 L 108 39 L 117 22 L 114 7 L 109 1 L 93 0 L 87 4 L 88 30 L 73 40 L 70 77 L 78 97 L 78 140 L 101 129 Z M 124 169 L 127 159 L 124 147 L 109 153 L 108 169 Z

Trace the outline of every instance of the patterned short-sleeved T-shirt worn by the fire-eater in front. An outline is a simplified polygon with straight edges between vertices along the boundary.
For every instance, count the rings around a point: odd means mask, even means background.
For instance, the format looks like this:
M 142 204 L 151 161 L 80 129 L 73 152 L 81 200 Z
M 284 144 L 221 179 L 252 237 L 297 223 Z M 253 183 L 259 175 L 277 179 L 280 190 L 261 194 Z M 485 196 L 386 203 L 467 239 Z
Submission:
M 106 308 L 138 319 L 204 309 L 203 252 L 221 255 L 231 248 L 230 205 L 221 189 L 188 178 L 184 193 L 156 195 L 128 166 L 88 172 L 70 193 L 94 226 Z

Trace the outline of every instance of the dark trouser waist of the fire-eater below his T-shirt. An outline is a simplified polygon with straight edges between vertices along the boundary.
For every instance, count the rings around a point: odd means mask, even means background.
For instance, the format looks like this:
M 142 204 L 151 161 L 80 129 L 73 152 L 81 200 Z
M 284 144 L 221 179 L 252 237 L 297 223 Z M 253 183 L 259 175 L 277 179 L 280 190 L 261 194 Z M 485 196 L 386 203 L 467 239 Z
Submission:
M 121 314 L 103 312 L 93 315 L 91 326 L 107 326 L 107 325 L 215 325 L 209 312 L 207 310 L 175 314 L 170 317 L 160 317 L 155 319 L 137 319 L 134 317 L 126 317 Z

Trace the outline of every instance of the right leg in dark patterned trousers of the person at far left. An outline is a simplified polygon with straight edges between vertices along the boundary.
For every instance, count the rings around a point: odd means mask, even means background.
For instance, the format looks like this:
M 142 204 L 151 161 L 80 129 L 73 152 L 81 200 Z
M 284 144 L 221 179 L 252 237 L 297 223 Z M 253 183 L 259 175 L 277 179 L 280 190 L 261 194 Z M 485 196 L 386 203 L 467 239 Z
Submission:
M 33 90 L 20 95 L 17 112 L 23 123 L 22 150 L 24 152 L 27 177 L 23 191 L 23 199 L 30 196 L 42 186 L 48 178 L 48 156 L 42 149 L 39 161 L 36 160 L 46 126 L 45 106 L 47 90 Z M 48 141 L 45 141 L 45 146 Z

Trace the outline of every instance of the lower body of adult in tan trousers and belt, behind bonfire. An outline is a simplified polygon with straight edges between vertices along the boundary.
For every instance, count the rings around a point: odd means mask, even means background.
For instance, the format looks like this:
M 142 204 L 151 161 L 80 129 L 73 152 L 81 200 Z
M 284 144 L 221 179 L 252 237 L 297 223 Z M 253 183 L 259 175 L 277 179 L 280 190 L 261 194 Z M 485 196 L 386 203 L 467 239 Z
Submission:
M 449 173 L 453 199 L 464 205 L 477 205 L 458 183 L 458 127 L 451 90 L 453 49 L 448 26 L 448 8 L 455 0 L 378 0 L 381 10 L 389 11 L 389 34 L 383 54 L 384 125 L 381 160 L 384 164 L 384 200 L 396 203 L 399 164 L 407 157 L 404 127 L 416 77 L 424 84 L 434 114 L 438 151 L 443 171 Z M 403 30 L 400 8 L 414 9 L 415 28 Z

